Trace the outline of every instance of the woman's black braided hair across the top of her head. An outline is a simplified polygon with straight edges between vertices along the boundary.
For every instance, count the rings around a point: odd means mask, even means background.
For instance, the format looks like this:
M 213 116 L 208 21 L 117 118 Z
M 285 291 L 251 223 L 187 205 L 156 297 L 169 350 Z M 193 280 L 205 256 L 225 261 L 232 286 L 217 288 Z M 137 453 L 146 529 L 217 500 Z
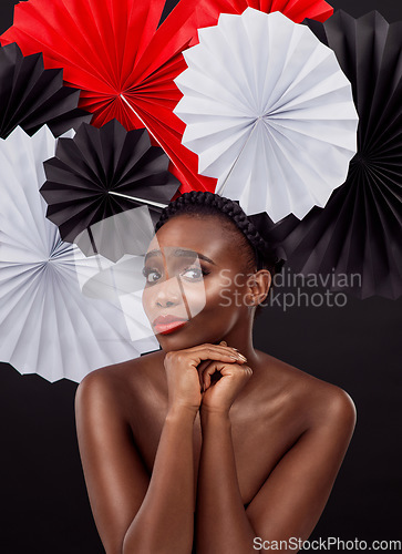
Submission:
M 251 247 L 248 248 L 249 261 L 257 265 L 257 270 L 268 269 L 272 278 L 281 270 L 285 259 L 279 257 L 279 250 L 265 240 L 236 201 L 210 192 L 192 191 L 184 193 L 162 211 L 161 217 L 155 225 L 155 233 L 168 219 L 183 214 L 214 215 L 219 216 L 226 223 L 229 222 L 229 225 L 235 225 L 241 232 L 246 239 L 245 244 Z

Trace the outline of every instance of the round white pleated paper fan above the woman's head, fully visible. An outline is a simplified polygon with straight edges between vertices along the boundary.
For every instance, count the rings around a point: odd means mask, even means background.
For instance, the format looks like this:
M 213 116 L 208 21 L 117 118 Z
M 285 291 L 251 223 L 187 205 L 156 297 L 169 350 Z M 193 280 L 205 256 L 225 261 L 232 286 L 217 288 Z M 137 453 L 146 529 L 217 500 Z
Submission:
M 358 117 L 333 52 L 280 12 L 220 16 L 175 79 L 183 144 L 216 192 L 274 222 L 324 206 L 355 154 Z

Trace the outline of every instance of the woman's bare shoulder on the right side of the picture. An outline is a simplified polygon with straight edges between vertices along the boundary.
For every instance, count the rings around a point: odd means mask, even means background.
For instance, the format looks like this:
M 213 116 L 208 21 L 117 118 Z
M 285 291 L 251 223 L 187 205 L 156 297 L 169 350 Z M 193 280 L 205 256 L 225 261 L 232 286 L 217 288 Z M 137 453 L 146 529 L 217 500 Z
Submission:
M 352 432 L 357 409 L 350 394 L 341 387 L 313 377 L 282 360 L 265 355 L 270 378 L 288 406 L 306 419 L 306 427 L 341 425 Z

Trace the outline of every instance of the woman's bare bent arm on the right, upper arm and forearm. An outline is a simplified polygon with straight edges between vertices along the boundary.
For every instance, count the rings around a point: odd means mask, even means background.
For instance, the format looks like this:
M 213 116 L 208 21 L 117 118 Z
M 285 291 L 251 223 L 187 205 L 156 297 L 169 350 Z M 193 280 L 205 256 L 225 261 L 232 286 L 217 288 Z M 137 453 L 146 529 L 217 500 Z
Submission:
M 245 510 L 229 419 L 237 375 L 244 379 L 245 369 L 235 365 L 220 370 L 223 378 L 208 388 L 206 403 L 203 400 L 200 407 L 197 554 L 255 553 L 258 537 L 278 544 L 290 537 L 306 541 L 324 509 L 353 433 L 354 404 L 344 391 L 333 387 L 316 407 L 311 427 L 282 456 Z M 209 382 L 207 377 L 207 387 Z M 297 551 L 292 544 L 289 550 L 282 545 L 281 552 Z

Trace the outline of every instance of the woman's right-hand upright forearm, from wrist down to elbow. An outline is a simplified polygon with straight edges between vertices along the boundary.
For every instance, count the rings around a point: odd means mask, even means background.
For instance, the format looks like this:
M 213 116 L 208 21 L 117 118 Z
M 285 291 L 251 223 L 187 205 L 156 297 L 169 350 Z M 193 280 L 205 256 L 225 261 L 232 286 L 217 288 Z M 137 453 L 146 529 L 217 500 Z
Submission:
M 239 491 L 228 413 L 200 410 L 203 447 L 197 483 L 197 554 L 255 552 Z

